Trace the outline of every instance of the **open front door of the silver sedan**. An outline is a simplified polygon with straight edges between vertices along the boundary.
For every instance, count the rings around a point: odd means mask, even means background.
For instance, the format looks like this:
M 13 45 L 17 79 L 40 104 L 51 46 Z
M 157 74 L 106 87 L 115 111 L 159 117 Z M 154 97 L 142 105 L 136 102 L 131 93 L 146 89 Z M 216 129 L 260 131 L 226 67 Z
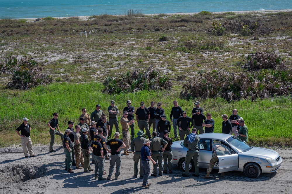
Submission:
M 223 144 L 212 144 L 212 147 L 218 157 L 219 173 L 238 169 L 239 162 L 236 152 Z

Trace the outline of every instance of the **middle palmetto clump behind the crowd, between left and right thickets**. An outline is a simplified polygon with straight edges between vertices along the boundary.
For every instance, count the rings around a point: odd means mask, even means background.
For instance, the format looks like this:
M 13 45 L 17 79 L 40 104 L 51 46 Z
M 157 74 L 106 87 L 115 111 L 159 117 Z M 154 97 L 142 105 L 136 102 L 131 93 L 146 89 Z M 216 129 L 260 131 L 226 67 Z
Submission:
M 117 77 L 107 76 L 103 82 L 104 93 L 137 92 L 139 90 L 167 90 L 172 82 L 167 75 L 159 75 L 152 65 L 145 71 L 137 69 L 118 74 Z

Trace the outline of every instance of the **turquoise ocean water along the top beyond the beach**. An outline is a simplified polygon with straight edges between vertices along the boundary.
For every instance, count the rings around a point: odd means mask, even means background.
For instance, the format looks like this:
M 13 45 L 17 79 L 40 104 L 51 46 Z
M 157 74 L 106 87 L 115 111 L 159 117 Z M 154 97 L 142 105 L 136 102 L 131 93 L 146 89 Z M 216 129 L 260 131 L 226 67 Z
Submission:
M 292 9 L 292 0 L 0 0 L 0 18 Z

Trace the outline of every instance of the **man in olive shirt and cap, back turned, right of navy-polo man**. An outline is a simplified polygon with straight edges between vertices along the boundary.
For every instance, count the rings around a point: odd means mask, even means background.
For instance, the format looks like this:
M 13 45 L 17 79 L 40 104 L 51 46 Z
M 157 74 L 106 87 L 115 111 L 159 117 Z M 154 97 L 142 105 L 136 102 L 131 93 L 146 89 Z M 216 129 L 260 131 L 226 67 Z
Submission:
M 164 152 L 167 141 L 157 136 L 157 132 L 153 131 L 152 138 L 150 139 L 150 151 L 152 152 L 152 159 L 156 162 L 158 160 L 159 165 L 159 176 L 163 174 L 163 166 L 162 166 L 162 152 Z M 161 149 L 161 145 L 164 144 L 164 147 Z M 153 174 L 151 176 L 157 176 L 157 163 L 153 164 Z

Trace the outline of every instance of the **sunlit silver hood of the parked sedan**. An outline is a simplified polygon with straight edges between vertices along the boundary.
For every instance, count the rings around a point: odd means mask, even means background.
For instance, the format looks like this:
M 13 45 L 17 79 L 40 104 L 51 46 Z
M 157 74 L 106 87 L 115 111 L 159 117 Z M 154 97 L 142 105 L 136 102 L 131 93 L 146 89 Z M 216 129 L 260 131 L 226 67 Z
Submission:
M 241 154 L 258 158 L 273 158 L 274 160 L 280 156 L 279 153 L 274 150 L 259 147 L 253 147 L 246 152 L 242 152 Z

